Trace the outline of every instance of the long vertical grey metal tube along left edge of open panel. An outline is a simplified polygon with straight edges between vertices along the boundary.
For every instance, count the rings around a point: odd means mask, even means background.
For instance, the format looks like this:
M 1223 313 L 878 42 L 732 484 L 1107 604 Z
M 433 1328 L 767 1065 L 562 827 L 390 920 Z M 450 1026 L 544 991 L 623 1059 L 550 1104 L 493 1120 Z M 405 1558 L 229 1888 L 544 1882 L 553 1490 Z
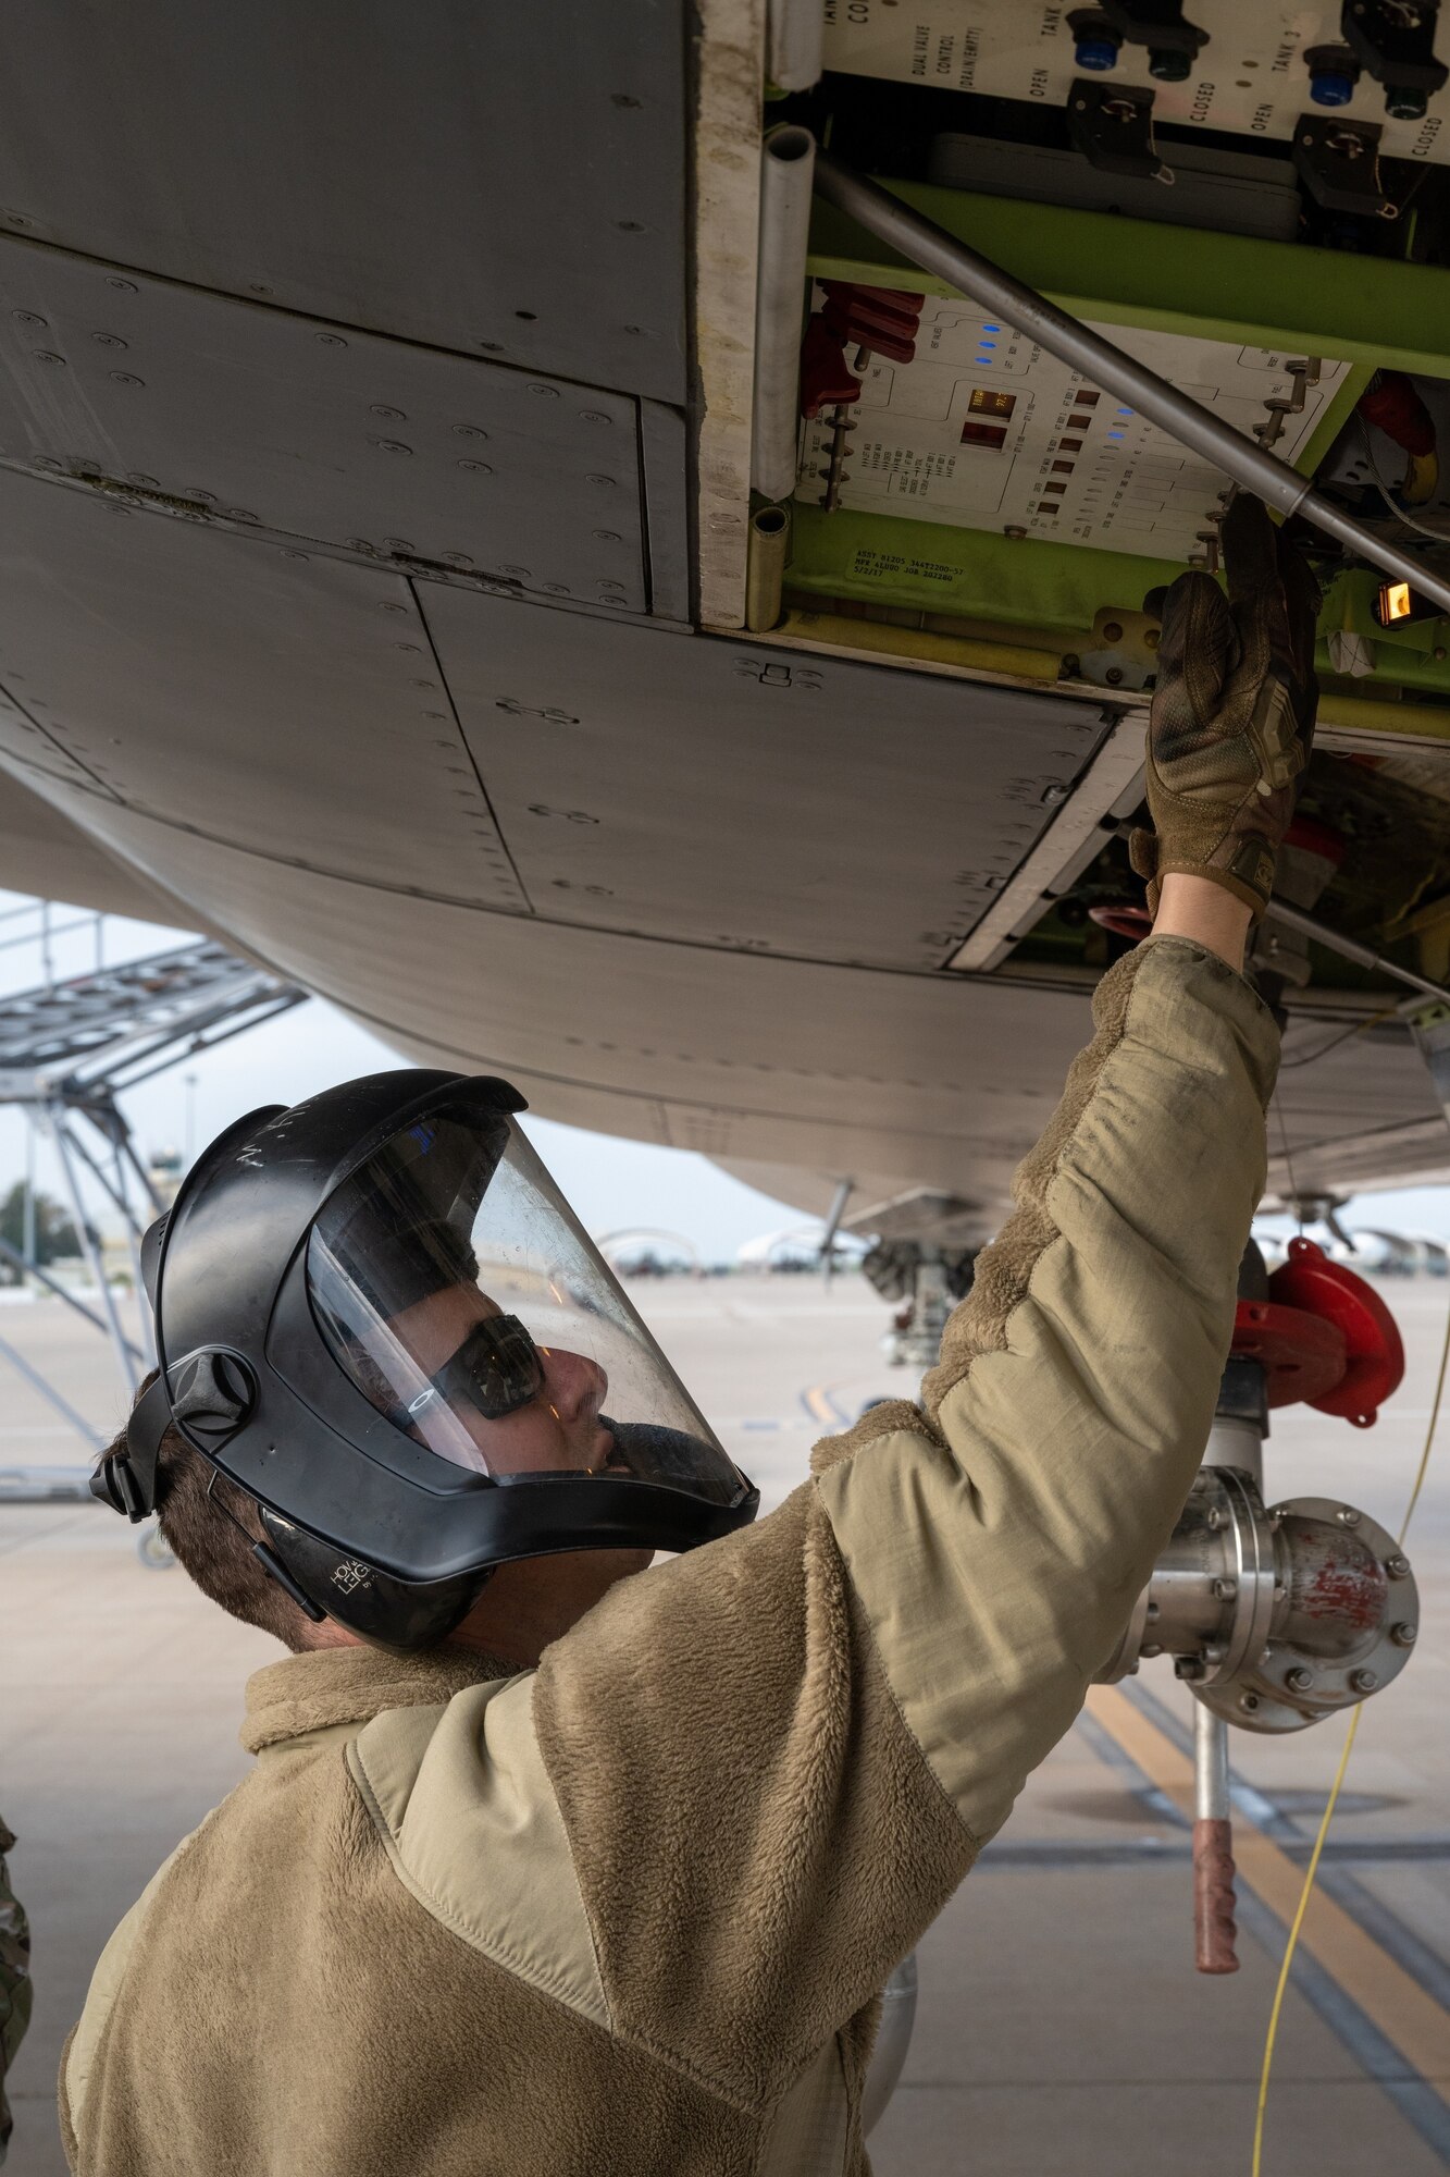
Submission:
M 816 11 L 819 13 L 819 11 Z M 760 146 L 751 490 L 790 499 L 801 435 L 801 303 L 816 139 L 786 122 Z

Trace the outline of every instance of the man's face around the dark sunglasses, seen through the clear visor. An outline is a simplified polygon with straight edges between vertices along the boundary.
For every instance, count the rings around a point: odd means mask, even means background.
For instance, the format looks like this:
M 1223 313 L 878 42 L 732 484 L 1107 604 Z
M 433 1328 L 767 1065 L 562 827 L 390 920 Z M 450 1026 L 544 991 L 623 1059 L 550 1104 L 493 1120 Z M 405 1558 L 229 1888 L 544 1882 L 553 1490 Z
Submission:
M 503 1311 L 477 1284 L 448 1284 L 390 1317 L 390 1330 L 425 1376 L 435 1376 L 475 1324 Z M 490 1422 L 466 1400 L 451 1409 L 479 1452 L 486 1474 L 599 1472 L 616 1463 L 614 1437 L 599 1426 L 610 1378 L 597 1361 L 562 1345 L 540 1345 L 544 1385 L 516 1413 Z

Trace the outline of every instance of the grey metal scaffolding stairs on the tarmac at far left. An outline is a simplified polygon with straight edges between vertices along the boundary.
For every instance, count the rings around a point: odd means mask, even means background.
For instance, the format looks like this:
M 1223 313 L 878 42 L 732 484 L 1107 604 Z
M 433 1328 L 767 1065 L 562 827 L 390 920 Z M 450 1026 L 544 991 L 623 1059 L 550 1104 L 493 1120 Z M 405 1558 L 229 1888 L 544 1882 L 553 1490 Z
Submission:
M 30 1128 L 26 1219 L 22 1245 L 0 1234 L 0 1260 L 22 1278 L 33 1278 L 63 1300 L 94 1330 L 111 1341 L 115 1365 L 135 1393 L 142 1374 L 155 1365 L 150 1311 L 142 1287 L 142 1232 L 168 1206 L 146 1160 L 137 1154 L 131 1123 L 118 1102 L 128 1088 L 165 1073 L 200 1051 L 239 1036 L 248 1028 L 300 1006 L 305 991 L 279 982 L 266 969 L 237 960 L 211 940 L 179 945 L 174 951 L 102 962 L 102 917 L 81 917 L 52 925 L 50 901 L 11 910 L 0 921 L 39 914 L 39 930 L 0 938 L 0 949 L 39 943 L 46 980 L 11 997 L 0 997 L 0 1106 L 15 1106 Z M 57 982 L 50 940 L 94 923 L 96 967 Z M 35 1143 L 48 1141 L 61 1171 L 65 1202 L 91 1276 L 96 1304 L 37 1260 L 35 1237 Z M 91 1202 L 120 1219 L 131 1254 L 133 1289 L 139 1302 L 139 1343 L 126 1332 L 115 1289 L 107 1278 L 102 1241 Z M 63 1389 L 0 1337 L 7 1361 L 85 1446 L 100 1450 L 100 1437 L 76 1413 Z M 83 1498 L 89 1467 L 0 1469 L 0 1502 Z

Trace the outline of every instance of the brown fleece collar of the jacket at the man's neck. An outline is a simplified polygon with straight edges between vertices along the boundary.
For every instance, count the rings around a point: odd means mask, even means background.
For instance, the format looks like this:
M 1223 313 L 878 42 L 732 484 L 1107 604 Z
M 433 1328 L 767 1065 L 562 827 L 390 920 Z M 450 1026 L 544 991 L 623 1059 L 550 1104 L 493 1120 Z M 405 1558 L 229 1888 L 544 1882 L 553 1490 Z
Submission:
M 383 1709 L 453 1700 L 486 1678 L 512 1678 L 518 1665 L 462 1648 L 394 1655 L 388 1648 L 314 1648 L 255 1670 L 246 1681 L 242 1746 L 248 1755 L 331 1724 L 366 1724 Z

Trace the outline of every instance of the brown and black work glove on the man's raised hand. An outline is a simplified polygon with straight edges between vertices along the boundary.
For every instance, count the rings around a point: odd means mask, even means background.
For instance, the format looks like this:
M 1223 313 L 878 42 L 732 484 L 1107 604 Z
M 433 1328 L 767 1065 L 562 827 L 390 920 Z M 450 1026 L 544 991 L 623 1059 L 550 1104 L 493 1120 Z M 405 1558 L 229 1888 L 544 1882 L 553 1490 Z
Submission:
M 1193 573 L 1163 601 L 1147 723 L 1154 829 L 1134 832 L 1128 851 L 1154 914 L 1160 880 L 1184 871 L 1258 921 L 1315 731 L 1319 586 L 1261 499 L 1241 492 L 1221 536 L 1228 599 Z

